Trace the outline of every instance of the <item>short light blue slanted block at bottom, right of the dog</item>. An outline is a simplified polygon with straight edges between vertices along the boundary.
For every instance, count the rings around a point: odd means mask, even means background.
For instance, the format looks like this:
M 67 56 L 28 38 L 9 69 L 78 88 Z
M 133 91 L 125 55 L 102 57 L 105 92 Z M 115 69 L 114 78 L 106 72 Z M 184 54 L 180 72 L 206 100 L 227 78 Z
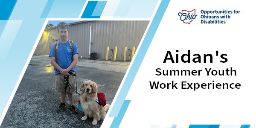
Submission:
M 112 122 L 110 128 L 118 128 L 119 127 L 119 125 L 120 125 L 120 123 L 122 121 L 122 118 L 124 117 L 125 112 L 126 112 L 128 106 L 129 106 L 130 102 L 131 102 L 130 100 L 125 100 L 123 102 L 122 108 L 121 108 L 122 111 L 119 112 L 118 116 L 113 119 L 113 122 Z

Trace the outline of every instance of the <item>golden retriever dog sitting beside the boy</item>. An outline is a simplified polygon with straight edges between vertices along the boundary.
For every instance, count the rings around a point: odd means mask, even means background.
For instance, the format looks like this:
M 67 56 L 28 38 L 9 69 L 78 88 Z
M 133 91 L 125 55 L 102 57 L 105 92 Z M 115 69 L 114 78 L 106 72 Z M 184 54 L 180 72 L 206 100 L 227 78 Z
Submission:
M 107 104 L 104 107 L 96 102 L 98 87 L 93 81 L 84 81 L 80 87 L 81 95 L 80 102 L 83 108 L 84 117 L 82 120 L 86 120 L 87 117 L 93 118 L 93 125 L 97 124 L 97 121 L 104 119 L 106 111 L 108 111 L 110 105 Z

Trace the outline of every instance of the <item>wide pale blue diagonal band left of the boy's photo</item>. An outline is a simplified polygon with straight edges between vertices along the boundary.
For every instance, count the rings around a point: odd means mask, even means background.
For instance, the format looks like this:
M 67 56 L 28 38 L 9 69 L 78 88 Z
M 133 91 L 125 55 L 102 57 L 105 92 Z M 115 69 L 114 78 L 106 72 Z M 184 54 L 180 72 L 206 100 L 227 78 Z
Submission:
M 32 47 L 38 38 L 45 19 L 40 16 L 47 0 L 18 0 L 15 8 L 6 23 L 1 35 L 0 43 L 5 46 L 1 50 L 0 70 L 8 72 L 0 74 L 3 93 L 0 93 L 0 114 L 5 115 L 3 110 L 13 92 L 21 71 L 23 70 Z M 26 7 L 28 5 L 33 5 Z M 26 14 L 26 15 L 24 15 Z M 41 35 L 39 35 L 41 36 Z M 2 52 L 4 52 L 2 54 Z

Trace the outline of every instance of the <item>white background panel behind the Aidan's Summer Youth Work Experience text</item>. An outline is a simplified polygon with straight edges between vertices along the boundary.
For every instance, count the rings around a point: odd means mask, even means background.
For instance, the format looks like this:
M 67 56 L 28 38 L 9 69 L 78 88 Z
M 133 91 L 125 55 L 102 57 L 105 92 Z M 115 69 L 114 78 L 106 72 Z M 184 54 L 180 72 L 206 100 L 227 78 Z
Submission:
M 256 124 L 255 7 L 249 0 L 171 0 L 125 100 L 131 100 L 120 128 L 174 124 Z M 178 12 L 196 9 L 191 24 L 180 21 Z M 225 24 L 201 24 L 201 10 L 239 10 Z M 163 63 L 167 51 L 179 56 L 212 54 L 213 63 Z M 219 55 L 215 55 L 215 51 Z M 227 63 L 219 62 L 227 54 Z M 203 61 L 203 58 L 202 58 Z M 236 76 L 207 76 L 204 68 L 226 70 Z M 203 70 L 200 76 L 156 76 L 156 69 Z M 149 81 L 170 83 L 178 89 L 151 89 Z M 240 83 L 241 89 L 181 89 L 189 83 Z M 132 123 L 131 123 L 132 122 Z

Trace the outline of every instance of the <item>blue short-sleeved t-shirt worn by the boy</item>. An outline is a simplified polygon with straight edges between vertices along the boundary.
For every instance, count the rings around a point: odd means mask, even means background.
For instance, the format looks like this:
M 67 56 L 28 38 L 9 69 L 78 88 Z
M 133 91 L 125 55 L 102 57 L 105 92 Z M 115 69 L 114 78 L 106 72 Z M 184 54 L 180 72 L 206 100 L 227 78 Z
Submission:
M 54 45 L 55 45 L 55 43 L 53 43 L 51 46 L 49 57 L 56 57 Z M 76 43 L 74 42 L 73 55 L 75 55 L 75 54 L 78 54 L 78 49 L 77 49 Z M 67 40 L 67 42 L 64 44 L 61 43 L 61 41 L 59 41 L 59 43 L 58 43 L 58 59 L 56 62 L 62 69 L 67 69 L 70 66 L 70 64 L 72 63 L 71 58 L 73 57 L 73 55 L 72 55 L 71 48 L 69 46 L 69 40 Z M 54 70 L 55 70 L 55 74 L 60 73 L 55 68 L 54 68 Z M 73 69 L 70 70 L 70 72 L 76 72 L 76 67 L 73 67 Z

